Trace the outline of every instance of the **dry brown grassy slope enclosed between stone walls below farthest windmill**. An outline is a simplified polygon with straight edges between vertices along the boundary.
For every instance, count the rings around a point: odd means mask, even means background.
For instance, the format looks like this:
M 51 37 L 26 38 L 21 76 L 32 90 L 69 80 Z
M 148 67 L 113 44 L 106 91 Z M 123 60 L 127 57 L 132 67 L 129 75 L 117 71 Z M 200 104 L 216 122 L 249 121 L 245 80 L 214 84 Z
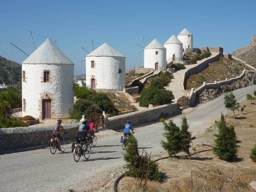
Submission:
M 244 66 L 233 59 L 220 58 L 219 61 L 212 62 L 205 70 L 198 74 L 191 75 L 186 82 L 186 89 L 200 87 L 203 82 L 213 83 L 239 76 L 244 70 Z

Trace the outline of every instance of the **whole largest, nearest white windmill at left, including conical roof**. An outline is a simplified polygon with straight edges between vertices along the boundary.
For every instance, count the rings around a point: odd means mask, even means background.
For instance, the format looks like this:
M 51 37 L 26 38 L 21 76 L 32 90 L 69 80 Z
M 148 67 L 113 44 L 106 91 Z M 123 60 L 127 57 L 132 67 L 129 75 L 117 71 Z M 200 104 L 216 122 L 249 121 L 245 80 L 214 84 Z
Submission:
M 22 63 L 23 116 L 68 116 L 74 106 L 74 64 L 48 38 Z

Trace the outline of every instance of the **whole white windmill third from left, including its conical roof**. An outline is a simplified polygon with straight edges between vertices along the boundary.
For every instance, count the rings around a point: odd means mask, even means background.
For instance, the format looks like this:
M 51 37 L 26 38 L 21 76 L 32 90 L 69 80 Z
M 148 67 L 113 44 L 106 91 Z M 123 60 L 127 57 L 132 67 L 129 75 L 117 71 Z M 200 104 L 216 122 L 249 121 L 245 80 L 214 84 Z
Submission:
M 144 68 L 166 70 L 166 49 L 157 39 L 144 49 Z

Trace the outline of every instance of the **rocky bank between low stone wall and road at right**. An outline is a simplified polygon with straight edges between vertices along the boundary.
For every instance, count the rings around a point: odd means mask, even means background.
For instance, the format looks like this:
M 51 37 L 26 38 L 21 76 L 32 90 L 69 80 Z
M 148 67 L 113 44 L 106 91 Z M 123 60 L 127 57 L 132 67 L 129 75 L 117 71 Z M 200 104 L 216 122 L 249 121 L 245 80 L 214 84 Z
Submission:
M 221 86 L 219 89 L 203 90 L 198 95 L 197 102 L 204 102 L 204 101 L 216 98 L 223 93 L 245 88 L 248 86 L 253 86 L 254 84 L 256 84 L 256 74 L 249 73 L 249 74 L 246 74 L 242 79 L 238 81 L 234 81 L 230 84 L 225 84 L 224 86 Z

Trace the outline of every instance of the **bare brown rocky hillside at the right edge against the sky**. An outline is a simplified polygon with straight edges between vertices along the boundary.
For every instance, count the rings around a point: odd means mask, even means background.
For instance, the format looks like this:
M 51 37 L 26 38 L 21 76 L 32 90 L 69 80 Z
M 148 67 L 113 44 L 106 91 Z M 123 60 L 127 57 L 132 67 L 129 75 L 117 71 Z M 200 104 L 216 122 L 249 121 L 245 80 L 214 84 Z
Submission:
M 246 61 L 248 65 L 256 67 L 256 36 L 252 36 L 252 41 L 247 47 L 234 51 L 232 55 Z

